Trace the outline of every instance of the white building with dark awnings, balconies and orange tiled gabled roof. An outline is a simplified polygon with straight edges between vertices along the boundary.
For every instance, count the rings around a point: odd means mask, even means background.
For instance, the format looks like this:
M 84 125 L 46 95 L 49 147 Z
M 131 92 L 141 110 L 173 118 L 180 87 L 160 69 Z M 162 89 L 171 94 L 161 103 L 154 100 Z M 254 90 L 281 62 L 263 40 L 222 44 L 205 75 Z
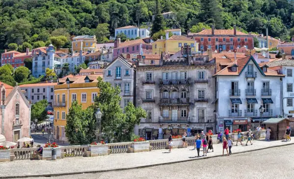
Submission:
M 215 117 L 217 131 L 256 128 L 262 121 L 282 114 L 284 75 L 259 67 L 255 59 L 245 57 L 217 72 Z M 263 106 L 264 112 L 259 108 Z

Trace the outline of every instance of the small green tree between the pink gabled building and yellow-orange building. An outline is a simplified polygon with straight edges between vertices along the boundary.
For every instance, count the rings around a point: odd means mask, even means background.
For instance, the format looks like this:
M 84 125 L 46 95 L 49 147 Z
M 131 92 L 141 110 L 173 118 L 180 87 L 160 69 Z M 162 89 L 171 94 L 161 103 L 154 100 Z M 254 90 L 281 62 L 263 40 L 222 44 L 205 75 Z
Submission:
M 48 119 L 46 107 L 48 106 L 47 100 L 41 100 L 31 105 L 31 120 L 38 119 L 38 122 Z

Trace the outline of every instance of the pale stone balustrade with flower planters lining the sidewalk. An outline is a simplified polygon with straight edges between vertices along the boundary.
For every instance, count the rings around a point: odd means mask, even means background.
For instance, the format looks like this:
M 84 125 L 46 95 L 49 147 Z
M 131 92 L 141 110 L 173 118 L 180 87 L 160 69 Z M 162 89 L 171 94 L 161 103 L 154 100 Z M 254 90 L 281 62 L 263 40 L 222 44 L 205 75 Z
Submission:
M 246 132 L 241 132 L 243 140 L 246 140 Z M 253 134 L 256 131 L 252 131 Z M 230 133 L 229 136 L 232 140 L 237 141 L 237 133 Z M 260 132 L 260 139 L 264 139 L 266 130 Z M 218 143 L 217 135 L 212 135 L 213 143 Z M 195 137 L 186 137 L 188 146 L 194 146 Z M 173 148 L 183 147 L 182 139 L 173 139 Z M 134 152 L 147 152 L 151 150 L 160 150 L 168 148 L 168 139 L 150 140 L 144 142 L 121 142 L 99 145 L 77 145 L 77 146 L 62 146 L 56 149 L 56 158 L 64 157 L 77 157 L 77 156 L 100 156 L 114 153 L 134 153 Z M 32 159 L 34 151 L 37 148 L 22 148 L 22 149 L 9 149 L 0 150 L 1 161 L 13 160 L 28 160 Z M 38 157 L 37 157 L 38 158 Z M 52 159 L 52 148 L 43 148 L 43 156 L 38 159 Z

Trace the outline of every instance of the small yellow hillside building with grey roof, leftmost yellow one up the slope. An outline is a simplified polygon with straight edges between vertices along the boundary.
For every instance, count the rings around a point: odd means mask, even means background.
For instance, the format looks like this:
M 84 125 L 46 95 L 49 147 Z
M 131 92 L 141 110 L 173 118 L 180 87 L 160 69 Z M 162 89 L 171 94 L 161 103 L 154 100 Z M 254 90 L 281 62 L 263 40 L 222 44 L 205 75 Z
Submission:
M 73 38 L 72 51 L 96 51 L 96 36 L 95 35 L 79 35 Z

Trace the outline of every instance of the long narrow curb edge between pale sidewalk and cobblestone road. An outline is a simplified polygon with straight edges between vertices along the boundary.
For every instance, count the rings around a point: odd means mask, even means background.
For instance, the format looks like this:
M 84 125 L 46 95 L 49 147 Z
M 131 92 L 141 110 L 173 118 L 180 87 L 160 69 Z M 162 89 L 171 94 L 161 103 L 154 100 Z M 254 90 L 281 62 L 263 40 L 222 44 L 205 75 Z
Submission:
M 294 145 L 294 143 L 283 144 L 283 145 L 279 145 L 279 146 L 270 146 L 270 147 L 265 147 L 265 148 L 261 148 L 261 149 L 253 149 L 253 150 L 249 150 L 249 151 L 236 152 L 236 153 L 233 153 L 233 154 L 261 151 L 261 150 L 265 150 L 265 149 L 283 147 L 283 146 L 289 146 L 289 145 Z M 159 165 L 170 165 L 170 164 L 182 163 L 182 162 L 188 162 L 188 161 L 194 161 L 194 160 L 202 160 L 202 159 L 214 158 L 214 157 L 219 157 L 219 156 L 222 156 L 222 155 L 220 154 L 220 155 L 214 155 L 214 156 L 205 156 L 205 157 L 201 157 L 201 158 L 195 157 L 195 158 L 186 159 L 186 160 L 179 160 L 179 161 L 165 162 L 165 163 L 157 163 L 157 164 L 143 165 L 143 166 L 136 166 L 136 167 L 128 167 L 128 168 L 116 168 L 116 169 L 108 169 L 108 170 L 92 170 L 92 171 L 80 171 L 80 172 L 67 172 L 67 173 L 55 173 L 55 174 L 37 174 L 37 175 L 25 175 L 25 176 L 4 176 L 4 177 L 0 177 L 0 179 L 58 177 L 58 176 L 67 176 L 67 175 L 79 175 L 79 174 L 90 174 L 90 173 L 95 174 L 95 173 L 125 171 L 125 170 L 132 170 L 132 169 L 155 167 L 155 166 L 159 166 Z

